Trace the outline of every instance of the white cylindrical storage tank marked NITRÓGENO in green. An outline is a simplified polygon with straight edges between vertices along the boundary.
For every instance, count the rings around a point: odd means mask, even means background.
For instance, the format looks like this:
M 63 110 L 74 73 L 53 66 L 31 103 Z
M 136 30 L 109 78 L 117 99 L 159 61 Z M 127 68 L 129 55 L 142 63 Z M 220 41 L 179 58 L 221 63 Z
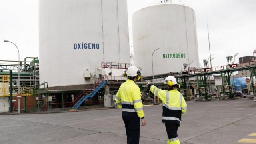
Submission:
M 132 15 L 134 64 L 143 76 L 184 70 L 183 64 L 199 67 L 195 12 L 177 4 L 155 4 Z

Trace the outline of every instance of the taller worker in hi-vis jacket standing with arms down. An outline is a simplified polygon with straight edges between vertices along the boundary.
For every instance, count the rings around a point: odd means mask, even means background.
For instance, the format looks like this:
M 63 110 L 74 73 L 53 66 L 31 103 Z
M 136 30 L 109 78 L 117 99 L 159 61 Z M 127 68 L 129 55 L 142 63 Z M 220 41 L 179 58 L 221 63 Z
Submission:
M 135 84 L 140 80 L 141 74 L 136 66 L 130 66 L 124 77 L 128 80 L 121 84 L 115 101 L 118 108 L 122 108 L 122 118 L 126 128 L 127 144 L 139 144 L 140 141 L 140 119 L 141 126 L 146 125 L 140 88 Z

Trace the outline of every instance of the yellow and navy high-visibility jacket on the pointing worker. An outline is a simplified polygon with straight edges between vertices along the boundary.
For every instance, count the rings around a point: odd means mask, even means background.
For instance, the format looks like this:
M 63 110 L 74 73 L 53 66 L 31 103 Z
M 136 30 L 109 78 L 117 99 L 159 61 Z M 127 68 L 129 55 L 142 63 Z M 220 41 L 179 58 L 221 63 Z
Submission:
M 150 86 L 150 91 L 163 102 L 162 122 L 180 124 L 181 115 L 187 111 L 187 104 L 182 94 L 176 89 L 161 90 L 154 85 Z

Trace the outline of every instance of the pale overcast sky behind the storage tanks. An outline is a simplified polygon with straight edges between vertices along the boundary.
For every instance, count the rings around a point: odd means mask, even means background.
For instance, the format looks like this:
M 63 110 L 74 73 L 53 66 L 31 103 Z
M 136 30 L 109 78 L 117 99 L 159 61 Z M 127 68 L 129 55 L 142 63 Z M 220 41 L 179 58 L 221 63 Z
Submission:
M 128 0 L 131 36 L 131 16 L 154 0 Z M 14 42 L 20 49 L 20 59 L 37 57 L 38 0 L 0 0 L 0 60 L 18 60 Z M 179 0 L 173 0 L 178 4 Z M 185 0 L 185 5 L 196 12 L 200 63 L 209 57 L 206 13 L 210 31 L 211 53 L 216 54 L 213 66 L 226 64 L 226 56 L 252 55 L 256 49 L 256 0 Z M 130 44 L 132 40 L 130 40 Z

